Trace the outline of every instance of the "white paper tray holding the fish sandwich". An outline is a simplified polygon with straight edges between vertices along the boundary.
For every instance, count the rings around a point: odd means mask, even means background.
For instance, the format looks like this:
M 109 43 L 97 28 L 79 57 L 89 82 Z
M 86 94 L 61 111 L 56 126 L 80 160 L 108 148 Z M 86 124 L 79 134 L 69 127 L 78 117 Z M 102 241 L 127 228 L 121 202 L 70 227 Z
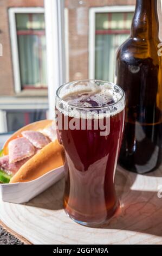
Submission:
M 64 166 L 50 170 L 39 178 L 28 182 L 0 184 L 0 194 L 3 201 L 21 204 L 28 202 L 38 194 L 55 184 L 64 176 Z

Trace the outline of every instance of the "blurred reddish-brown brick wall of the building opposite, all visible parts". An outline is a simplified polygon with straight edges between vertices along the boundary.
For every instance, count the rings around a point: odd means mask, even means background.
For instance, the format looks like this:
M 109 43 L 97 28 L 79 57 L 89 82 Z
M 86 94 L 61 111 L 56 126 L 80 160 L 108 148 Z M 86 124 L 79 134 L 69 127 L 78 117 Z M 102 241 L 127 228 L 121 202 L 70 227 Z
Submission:
M 88 78 L 88 13 L 90 7 L 106 5 L 132 5 L 135 0 L 65 0 L 69 15 L 69 80 Z M 0 1 L 0 43 L 3 57 L 0 57 L 0 96 L 14 95 L 11 44 L 8 8 L 43 7 L 43 0 L 1 0 Z M 158 0 L 160 23 L 162 15 Z M 162 27 L 160 31 L 162 34 Z M 162 38 L 162 36 L 161 36 Z

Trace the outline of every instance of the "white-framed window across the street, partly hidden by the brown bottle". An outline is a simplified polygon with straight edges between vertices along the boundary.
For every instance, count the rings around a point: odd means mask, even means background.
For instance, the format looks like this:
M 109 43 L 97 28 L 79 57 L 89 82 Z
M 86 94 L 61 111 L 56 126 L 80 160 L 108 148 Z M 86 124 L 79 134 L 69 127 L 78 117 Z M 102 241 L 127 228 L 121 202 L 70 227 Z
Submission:
M 107 10 L 106 10 L 107 9 Z M 89 33 L 89 76 L 114 82 L 115 56 L 130 33 L 134 7 L 92 8 Z M 93 41 L 93 44 L 92 44 Z M 94 50 L 92 50 L 92 45 Z

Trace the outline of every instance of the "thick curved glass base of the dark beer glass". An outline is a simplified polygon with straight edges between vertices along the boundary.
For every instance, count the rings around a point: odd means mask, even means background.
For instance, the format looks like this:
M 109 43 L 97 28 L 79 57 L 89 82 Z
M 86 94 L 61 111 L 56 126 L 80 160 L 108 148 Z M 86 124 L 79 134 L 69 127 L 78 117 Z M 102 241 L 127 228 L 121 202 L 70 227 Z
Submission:
M 76 222 L 77 224 L 81 224 L 84 226 L 88 226 L 88 227 L 96 227 L 98 225 L 101 225 L 103 223 L 108 223 L 109 220 L 111 220 L 111 218 L 114 216 L 115 212 L 120 208 L 120 201 L 116 202 L 115 206 L 113 207 L 113 209 L 109 210 L 107 213 L 106 218 L 102 219 L 102 220 L 95 220 L 95 221 L 81 221 L 78 220 L 74 217 L 74 215 L 70 214 L 66 209 L 64 209 L 64 211 L 66 212 L 66 215 L 73 220 L 74 222 Z M 85 218 L 85 217 L 83 217 Z M 82 219 L 83 219 L 82 218 Z M 80 217 L 81 219 L 81 217 Z

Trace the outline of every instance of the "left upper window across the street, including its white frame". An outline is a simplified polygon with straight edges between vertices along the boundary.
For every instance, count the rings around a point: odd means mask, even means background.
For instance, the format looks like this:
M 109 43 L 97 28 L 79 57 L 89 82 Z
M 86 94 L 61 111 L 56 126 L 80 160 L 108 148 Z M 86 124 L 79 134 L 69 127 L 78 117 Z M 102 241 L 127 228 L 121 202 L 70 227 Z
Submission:
M 43 8 L 10 8 L 15 92 L 47 88 Z

